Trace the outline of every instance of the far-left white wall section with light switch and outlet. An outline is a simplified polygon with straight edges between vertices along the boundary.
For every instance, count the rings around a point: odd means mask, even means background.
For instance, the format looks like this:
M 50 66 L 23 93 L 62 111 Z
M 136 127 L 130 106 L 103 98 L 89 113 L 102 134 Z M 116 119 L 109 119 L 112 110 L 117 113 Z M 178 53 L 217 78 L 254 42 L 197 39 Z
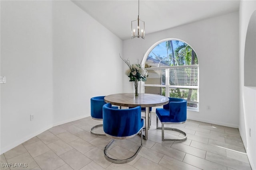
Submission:
M 52 2 L 0 3 L 3 153 L 52 126 Z

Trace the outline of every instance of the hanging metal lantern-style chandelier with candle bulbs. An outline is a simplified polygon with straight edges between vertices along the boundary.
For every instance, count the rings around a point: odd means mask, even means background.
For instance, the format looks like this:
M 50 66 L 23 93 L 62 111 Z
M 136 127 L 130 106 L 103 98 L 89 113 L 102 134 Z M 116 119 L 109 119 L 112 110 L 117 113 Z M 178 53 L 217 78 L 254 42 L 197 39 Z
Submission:
M 140 0 L 138 0 L 138 19 L 132 21 L 132 39 L 142 37 L 145 39 L 145 22 L 140 20 Z

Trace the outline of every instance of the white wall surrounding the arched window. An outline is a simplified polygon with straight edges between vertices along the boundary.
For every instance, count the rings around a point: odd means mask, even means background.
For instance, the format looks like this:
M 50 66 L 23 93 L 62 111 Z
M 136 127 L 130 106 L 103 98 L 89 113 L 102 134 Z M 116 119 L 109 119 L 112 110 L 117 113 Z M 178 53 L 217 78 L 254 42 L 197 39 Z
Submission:
M 188 111 L 188 119 L 238 127 L 238 12 L 147 34 L 145 40 L 125 40 L 122 57 L 136 63 L 154 43 L 166 38 L 185 41 L 198 56 L 199 111 Z M 132 91 L 128 78 L 123 87 Z

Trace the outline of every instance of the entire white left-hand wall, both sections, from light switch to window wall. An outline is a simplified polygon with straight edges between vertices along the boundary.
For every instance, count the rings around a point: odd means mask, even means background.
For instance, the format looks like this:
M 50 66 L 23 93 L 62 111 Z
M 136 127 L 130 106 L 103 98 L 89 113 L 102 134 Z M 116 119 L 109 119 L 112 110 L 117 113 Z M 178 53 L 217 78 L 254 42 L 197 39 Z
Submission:
M 1 0 L 1 154 L 122 92 L 119 53 L 122 40 L 73 2 Z

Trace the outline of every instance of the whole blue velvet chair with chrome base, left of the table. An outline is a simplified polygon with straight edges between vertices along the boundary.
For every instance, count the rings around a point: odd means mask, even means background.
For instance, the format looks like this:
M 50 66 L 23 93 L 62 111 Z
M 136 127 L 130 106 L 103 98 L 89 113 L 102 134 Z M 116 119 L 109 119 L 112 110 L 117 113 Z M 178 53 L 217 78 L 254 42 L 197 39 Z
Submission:
M 105 96 L 96 96 L 91 98 L 91 117 L 95 120 L 102 120 L 103 119 L 103 113 L 102 113 L 102 107 L 106 102 L 104 102 Z M 115 106 L 115 108 L 118 108 Z M 98 136 L 106 136 L 104 133 L 96 133 L 93 131 L 93 129 L 97 127 L 102 127 L 103 124 L 96 125 L 92 127 L 91 133 Z

